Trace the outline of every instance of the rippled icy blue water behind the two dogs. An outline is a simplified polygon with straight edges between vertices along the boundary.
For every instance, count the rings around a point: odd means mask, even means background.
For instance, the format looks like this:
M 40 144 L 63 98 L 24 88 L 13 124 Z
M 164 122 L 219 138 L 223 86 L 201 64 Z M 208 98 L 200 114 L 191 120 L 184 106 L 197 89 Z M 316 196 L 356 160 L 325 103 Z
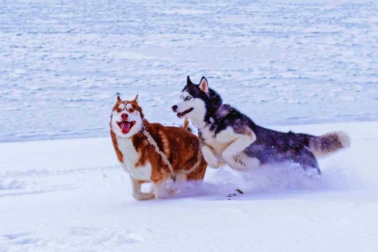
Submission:
M 0 142 L 108 134 L 117 94 L 147 119 L 204 75 L 256 123 L 378 119 L 373 1 L 0 1 Z

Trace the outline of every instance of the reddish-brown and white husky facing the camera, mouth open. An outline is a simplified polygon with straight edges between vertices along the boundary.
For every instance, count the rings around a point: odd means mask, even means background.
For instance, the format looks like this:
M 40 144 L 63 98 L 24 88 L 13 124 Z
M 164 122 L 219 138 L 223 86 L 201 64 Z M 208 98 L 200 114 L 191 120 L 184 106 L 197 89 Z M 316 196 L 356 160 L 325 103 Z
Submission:
M 149 123 L 138 104 L 138 96 L 132 101 L 123 101 L 118 96 L 110 119 L 110 135 L 119 162 L 129 173 L 133 198 L 147 200 L 165 198 L 173 192 L 166 188 L 171 171 L 155 146 L 151 144 L 146 132 L 164 153 L 173 171 L 182 180 L 203 180 L 207 164 L 199 153 L 200 143 L 197 136 L 179 127 Z M 201 158 L 198 165 L 197 161 Z M 198 167 L 190 171 L 195 165 Z M 181 172 L 181 173 L 180 173 Z M 152 182 L 153 192 L 141 192 L 141 184 Z

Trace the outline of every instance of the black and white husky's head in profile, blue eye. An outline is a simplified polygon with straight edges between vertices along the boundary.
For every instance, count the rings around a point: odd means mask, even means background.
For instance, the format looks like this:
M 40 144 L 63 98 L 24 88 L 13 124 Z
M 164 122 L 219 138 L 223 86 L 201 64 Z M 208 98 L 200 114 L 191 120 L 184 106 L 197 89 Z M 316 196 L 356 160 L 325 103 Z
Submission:
M 181 91 L 180 101 L 172 106 L 172 110 L 177 113 L 178 118 L 207 121 L 221 105 L 221 97 L 208 87 L 205 77 L 201 78 L 199 84 L 194 84 L 188 76 Z

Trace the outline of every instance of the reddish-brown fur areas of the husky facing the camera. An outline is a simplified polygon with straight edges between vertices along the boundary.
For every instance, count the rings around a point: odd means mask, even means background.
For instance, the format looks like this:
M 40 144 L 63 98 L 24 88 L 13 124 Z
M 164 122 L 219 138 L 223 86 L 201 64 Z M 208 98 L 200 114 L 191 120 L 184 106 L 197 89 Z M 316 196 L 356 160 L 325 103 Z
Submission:
M 136 99 L 133 101 L 122 101 L 120 98 L 117 98 L 113 111 L 116 111 L 122 103 L 124 103 L 125 106 L 131 104 L 132 108 L 139 111 L 143 119 L 143 111 L 139 107 Z M 159 149 L 166 154 L 175 173 L 179 174 L 182 170 L 190 170 L 197 163 L 200 143 L 196 135 L 179 127 L 149 123 L 146 119 L 143 119 L 143 125 L 151 134 Z M 119 148 L 117 138 L 120 136 L 117 136 L 113 132 L 111 122 L 110 134 L 117 158 L 119 162 L 123 163 L 125 160 L 123 156 L 125 152 L 123 153 Z M 155 184 L 160 184 L 164 182 L 165 179 L 171 177 L 171 172 L 167 164 L 164 163 L 163 158 L 156 152 L 155 147 L 149 143 L 147 137 L 141 130 L 131 136 L 131 140 L 135 150 L 139 154 L 139 159 L 134 165 L 134 169 L 144 167 L 147 163 L 149 163 L 152 168 L 149 181 L 136 180 L 137 182 L 143 183 L 152 181 Z M 206 172 L 206 167 L 207 163 L 201 155 L 200 165 L 190 174 L 185 174 L 184 176 L 180 176 L 180 178 L 185 178 L 186 180 L 202 180 Z

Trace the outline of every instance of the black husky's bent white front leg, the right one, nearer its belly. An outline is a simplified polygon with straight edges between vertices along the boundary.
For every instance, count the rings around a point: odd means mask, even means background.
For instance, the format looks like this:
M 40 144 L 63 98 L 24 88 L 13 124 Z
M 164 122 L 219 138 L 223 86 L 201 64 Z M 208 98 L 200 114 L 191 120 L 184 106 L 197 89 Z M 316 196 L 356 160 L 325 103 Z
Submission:
M 235 139 L 222 153 L 222 157 L 227 164 L 236 169 L 243 169 L 245 162 L 241 156 L 241 152 L 244 151 L 256 141 L 256 135 L 251 132 L 250 135 L 242 135 Z

